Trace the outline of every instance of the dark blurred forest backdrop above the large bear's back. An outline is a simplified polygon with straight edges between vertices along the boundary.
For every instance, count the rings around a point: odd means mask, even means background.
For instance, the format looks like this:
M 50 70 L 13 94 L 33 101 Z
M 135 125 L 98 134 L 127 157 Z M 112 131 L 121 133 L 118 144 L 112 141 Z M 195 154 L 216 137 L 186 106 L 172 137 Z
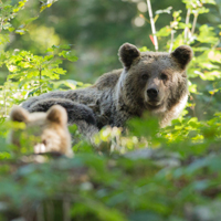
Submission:
M 13 3 L 17 3 L 14 0 Z M 204 23 L 221 23 L 221 0 L 217 6 L 210 4 L 210 13 L 202 14 L 198 19 L 198 27 Z M 29 50 L 34 54 L 42 54 L 53 44 L 69 43 L 76 50 L 78 61 L 76 63 L 64 62 L 67 74 L 63 78 L 93 83 L 97 76 L 113 69 L 119 69 L 118 48 L 129 42 L 138 48 L 147 46 L 154 51 L 149 39 L 151 28 L 147 4 L 144 0 L 62 0 L 53 3 L 39 14 L 42 1 L 28 1 L 24 10 L 12 21 L 20 28 L 27 19 L 38 17 L 25 28 L 23 35 L 11 33 L 11 42 L 8 50 Z M 172 11 L 182 10 L 182 19 L 186 17 L 182 1 L 152 0 L 152 12 L 172 7 Z M 143 14 L 145 18 L 140 18 Z M 192 19 L 192 18 L 191 18 Z M 171 13 L 164 13 L 156 21 L 157 31 L 169 25 Z M 185 22 L 185 21 L 183 21 Z M 166 45 L 159 39 L 159 51 L 165 51 Z M 1 70 L 1 82 L 6 80 L 6 70 Z

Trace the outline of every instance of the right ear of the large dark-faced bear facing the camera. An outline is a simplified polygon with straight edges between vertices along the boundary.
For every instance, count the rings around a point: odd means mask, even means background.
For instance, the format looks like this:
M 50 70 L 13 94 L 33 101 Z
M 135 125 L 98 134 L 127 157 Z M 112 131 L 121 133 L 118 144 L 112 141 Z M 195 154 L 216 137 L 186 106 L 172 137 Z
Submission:
M 190 46 L 178 46 L 172 53 L 172 57 L 179 63 L 181 69 L 186 69 L 188 63 L 192 60 L 193 52 Z

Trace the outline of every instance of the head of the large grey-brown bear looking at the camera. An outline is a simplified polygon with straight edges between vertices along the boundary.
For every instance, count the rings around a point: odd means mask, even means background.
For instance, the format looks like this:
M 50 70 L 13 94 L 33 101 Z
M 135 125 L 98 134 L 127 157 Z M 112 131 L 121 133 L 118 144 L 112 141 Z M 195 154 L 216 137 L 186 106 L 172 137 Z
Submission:
M 181 45 L 171 53 L 139 52 L 135 45 L 125 43 L 118 55 L 124 65 L 119 80 L 122 99 L 130 109 L 165 113 L 182 99 L 186 104 L 190 46 Z

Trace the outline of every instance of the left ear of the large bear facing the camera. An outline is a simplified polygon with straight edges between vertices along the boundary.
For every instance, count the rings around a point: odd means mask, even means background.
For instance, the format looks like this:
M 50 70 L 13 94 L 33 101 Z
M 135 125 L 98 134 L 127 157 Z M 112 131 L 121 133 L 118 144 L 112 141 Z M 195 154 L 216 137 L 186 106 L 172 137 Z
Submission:
M 133 61 L 140 56 L 138 49 L 129 43 L 125 43 L 119 48 L 119 61 L 126 69 L 129 69 Z

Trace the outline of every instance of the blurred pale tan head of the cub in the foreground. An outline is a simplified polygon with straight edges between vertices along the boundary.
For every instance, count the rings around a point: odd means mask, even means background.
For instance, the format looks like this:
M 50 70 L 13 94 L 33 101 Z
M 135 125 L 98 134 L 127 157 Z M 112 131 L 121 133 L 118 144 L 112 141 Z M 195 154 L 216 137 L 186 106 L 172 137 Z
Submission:
M 10 143 L 13 145 L 21 147 L 24 141 L 24 145 L 34 148 L 35 154 L 56 151 L 67 157 L 73 156 L 67 114 L 62 106 L 54 105 L 46 113 L 29 113 L 15 106 L 10 119 L 25 124 L 23 129 L 11 131 Z

